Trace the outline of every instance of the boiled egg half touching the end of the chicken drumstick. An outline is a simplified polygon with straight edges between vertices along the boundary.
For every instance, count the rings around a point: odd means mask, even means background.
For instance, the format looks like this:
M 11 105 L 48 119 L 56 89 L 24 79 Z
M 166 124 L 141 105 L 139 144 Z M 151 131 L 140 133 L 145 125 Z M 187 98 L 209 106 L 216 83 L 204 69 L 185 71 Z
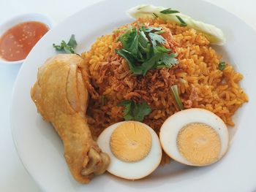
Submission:
M 137 121 L 123 121 L 105 128 L 97 143 L 110 156 L 108 172 L 127 180 L 151 174 L 162 158 L 157 134 Z

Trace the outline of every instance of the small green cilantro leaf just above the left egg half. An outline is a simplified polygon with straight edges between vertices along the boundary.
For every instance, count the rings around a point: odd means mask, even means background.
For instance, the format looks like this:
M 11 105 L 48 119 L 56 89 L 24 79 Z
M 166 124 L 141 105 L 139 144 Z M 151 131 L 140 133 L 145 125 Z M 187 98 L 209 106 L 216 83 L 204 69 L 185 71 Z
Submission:
M 121 101 L 117 106 L 124 107 L 123 115 L 125 120 L 137 120 L 142 122 L 144 117 L 151 113 L 151 108 L 145 101 L 142 103 L 136 103 L 132 100 Z

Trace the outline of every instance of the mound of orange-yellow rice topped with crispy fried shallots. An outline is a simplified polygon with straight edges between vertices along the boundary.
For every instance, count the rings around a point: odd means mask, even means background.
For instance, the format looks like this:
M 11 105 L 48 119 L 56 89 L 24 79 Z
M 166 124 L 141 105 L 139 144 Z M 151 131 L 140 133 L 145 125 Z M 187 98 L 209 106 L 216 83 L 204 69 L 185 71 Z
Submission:
M 243 75 L 227 62 L 225 69 L 219 70 L 222 56 L 195 29 L 159 18 L 140 19 L 139 22 L 170 29 L 176 42 L 173 50 L 178 53 L 179 64 L 171 69 L 152 69 L 146 76 L 135 76 L 130 72 L 127 61 L 115 52 L 116 48 L 121 47 L 117 39 L 122 30 L 99 37 L 91 50 L 82 54 L 91 77 L 91 87 L 88 88 L 91 100 L 87 115 L 92 134 L 97 137 L 104 128 L 124 120 L 123 107 L 117 107 L 117 104 L 130 99 L 148 103 L 152 112 L 144 118 L 143 123 L 159 134 L 162 123 L 178 112 L 170 91 L 172 85 L 178 85 L 185 109 L 198 107 L 210 110 L 222 118 L 227 126 L 234 126 L 233 114 L 248 101 L 246 93 L 239 86 Z M 129 25 L 137 26 L 138 20 Z M 162 163 L 167 163 L 168 159 L 163 158 Z

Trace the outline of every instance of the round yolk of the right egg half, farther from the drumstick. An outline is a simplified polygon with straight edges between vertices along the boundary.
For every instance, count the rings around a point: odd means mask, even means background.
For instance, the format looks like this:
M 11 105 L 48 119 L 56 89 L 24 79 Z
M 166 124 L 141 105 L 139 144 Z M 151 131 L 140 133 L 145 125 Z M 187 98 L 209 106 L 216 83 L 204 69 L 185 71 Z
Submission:
M 211 164 L 219 158 L 219 134 L 204 123 L 189 123 L 181 128 L 176 142 L 179 153 L 192 164 Z

